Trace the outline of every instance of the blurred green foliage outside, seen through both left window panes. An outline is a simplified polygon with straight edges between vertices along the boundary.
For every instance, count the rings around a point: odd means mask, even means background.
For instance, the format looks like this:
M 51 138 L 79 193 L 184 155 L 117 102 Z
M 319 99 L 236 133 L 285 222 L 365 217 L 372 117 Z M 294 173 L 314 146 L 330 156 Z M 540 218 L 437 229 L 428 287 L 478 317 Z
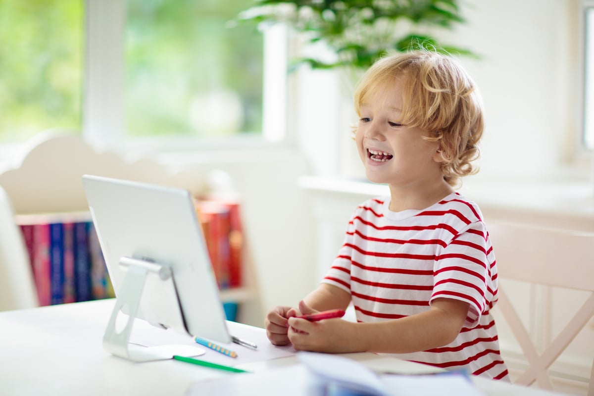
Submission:
M 230 23 L 252 0 L 126 3 L 127 135 L 261 132 L 263 36 Z M 0 142 L 81 130 L 84 4 L 0 0 Z

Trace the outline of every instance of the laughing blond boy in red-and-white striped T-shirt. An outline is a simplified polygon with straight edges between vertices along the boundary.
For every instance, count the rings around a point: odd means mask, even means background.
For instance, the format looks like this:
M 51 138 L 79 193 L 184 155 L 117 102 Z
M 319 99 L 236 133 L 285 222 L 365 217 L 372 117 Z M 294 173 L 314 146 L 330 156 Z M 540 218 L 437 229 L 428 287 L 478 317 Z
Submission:
M 387 56 L 355 91 L 355 143 L 366 176 L 390 197 L 369 199 L 320 286 L 298 308 L 266 316 L 271 343 L 401 359 L 507 379 L 489 310 L 497 266 L 475 202 L 454 192 L 476 170 L 483 132 L 475 84 L 454 59 L 416 51 Z M 346 309 L 357 322 L 293 316 Z

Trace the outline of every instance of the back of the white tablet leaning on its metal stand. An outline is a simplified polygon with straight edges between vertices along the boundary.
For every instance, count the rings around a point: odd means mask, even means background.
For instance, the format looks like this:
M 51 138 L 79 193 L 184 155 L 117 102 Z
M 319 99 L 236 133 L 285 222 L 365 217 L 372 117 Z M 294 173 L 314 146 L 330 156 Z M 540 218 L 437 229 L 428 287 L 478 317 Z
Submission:
M 116 297 L 125 295 L 121 287 L 129 267 L 122 265 L 122 258 L 164 265 L 173 275 L 175 292 L 163 289 L 159 276 L 147 277 L 135 316 L 192 336 L 230 342 L 189 191 L 90 175 L 83 176 L 83 186 Z M 175 304 L 182 328 L 169 317 Z

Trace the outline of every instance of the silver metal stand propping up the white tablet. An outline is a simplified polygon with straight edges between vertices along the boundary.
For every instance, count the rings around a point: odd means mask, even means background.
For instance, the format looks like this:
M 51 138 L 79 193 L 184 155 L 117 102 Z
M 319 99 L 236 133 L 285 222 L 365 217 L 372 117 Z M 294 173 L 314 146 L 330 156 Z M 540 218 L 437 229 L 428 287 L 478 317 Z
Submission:
M 166 302 L 167 314 L 170 315 L 168 323 L 172 327 L 185 328 L 184 319 L 179 306 L 179 299 L 173 273 L 169 265 L 158 264 L 153 261 L 122 257 L 119 265 L 127 267 L 124 280 L 118 289 L 118 296 L 108 327 L 103 335 L 103 347 L 115 356 L 123 357 L 133 362 L 150 362 L 152 360 L 171 359 L 174 354 L 180 356 L 196 356 L 202 350 L 188 345 L 163 345 L 155 347 L 131 346 L 129 343 L 134 319 L 138 315 L 140 300 L 148 277 L 158 279 L 163 295 L 158 296 Z M 167 303 L 169 302 L 169 303 Z M 124 313 L 123 311 L 126 311 Z M 118 316 L 127 316 L 127 322 L 122 331 L 116 328 Z M 119 327 L 119 326 L 117 326 Z

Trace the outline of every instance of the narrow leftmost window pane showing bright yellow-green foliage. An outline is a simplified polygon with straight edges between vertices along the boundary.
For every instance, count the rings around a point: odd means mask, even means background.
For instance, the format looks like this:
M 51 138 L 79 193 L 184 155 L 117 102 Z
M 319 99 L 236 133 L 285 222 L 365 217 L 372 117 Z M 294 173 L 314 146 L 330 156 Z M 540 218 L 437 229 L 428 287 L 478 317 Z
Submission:
M 0 142 L 80 130 L 82 20 L 80 1 L 0 2 Z

